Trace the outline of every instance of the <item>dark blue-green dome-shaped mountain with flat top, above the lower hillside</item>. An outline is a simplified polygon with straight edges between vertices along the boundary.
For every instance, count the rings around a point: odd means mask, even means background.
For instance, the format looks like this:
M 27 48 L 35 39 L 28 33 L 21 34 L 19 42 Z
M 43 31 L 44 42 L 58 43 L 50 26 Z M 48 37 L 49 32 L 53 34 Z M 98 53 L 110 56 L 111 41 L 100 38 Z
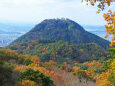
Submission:
M 109 45 L 108 41 L 87 32 L 82 26 L 70 19 L 46 19 L 13 43 L 32 40 L 64 40 L 75 44 L 96 43 L 103 48 L 107 48 Z

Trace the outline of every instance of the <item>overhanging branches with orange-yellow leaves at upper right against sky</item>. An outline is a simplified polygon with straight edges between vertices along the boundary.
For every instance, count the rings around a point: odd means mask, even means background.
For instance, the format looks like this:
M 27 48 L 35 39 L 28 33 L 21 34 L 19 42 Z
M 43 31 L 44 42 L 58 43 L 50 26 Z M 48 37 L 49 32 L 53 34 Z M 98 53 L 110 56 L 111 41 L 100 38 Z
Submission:
M 92 6 L 97 5 L 97 7 L 99 8 L 97 13 L 100 13 L 106 7 L 111 6 L 111 3 L 115 1 L 114 0 L 86 0 L 86 2 L 87 4 L 90 3 L 90 5 Z M 112 35 L 112 40 L 110 44 L 110 46 L 112 47 L 115 45 L 115 12 L 109 10 L 108 13 L 104 13 L 103 17 L 105 21 L 107 21 L 107 24 L 105 25 L 107 35 L 105 36 L 105 38 Z

